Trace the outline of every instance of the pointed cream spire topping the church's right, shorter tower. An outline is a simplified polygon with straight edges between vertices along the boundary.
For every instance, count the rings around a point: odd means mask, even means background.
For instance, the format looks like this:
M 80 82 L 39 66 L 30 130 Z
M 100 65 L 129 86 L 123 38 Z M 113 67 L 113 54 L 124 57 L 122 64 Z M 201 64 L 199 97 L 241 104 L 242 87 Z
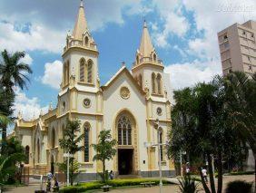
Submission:
M 144 20 L 143 36 L 142 36 L 141 45 L 140 45 L 140 53 L 142 53 L 143 57 L 149 57 L 152 51 L 153 51 L 153 44 L 151 42 L 146 20 Z

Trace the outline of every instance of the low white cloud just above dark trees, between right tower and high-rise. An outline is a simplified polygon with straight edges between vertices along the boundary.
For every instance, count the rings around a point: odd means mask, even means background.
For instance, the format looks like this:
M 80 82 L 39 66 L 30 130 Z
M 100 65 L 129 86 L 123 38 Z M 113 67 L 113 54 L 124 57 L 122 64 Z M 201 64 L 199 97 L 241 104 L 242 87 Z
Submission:
M 222 74 L 221 64 L 218 60 L 192 63 L 173 63 L 165 67 L 165 72 L 170 73 L 172 89 L 190 87 L 197 82 L 210 82 L 216 74 Z

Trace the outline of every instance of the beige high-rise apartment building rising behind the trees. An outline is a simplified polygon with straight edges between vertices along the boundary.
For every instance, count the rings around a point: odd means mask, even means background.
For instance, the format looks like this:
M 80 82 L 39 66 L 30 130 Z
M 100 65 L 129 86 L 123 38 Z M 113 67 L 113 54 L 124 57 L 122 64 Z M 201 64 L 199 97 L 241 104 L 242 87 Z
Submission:
M 256 72 L 256 22 L 232 24 L 218 33 L 222 72 Z

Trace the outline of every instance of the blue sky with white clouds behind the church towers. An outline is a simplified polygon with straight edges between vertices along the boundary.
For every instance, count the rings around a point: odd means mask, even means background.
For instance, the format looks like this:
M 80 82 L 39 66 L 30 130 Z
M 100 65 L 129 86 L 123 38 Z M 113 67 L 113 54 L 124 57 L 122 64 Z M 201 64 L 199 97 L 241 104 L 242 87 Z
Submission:
M 80 0 L 0 0 L 0 51 L 25 51 L 33 74 L 28 90 L 15 89 L 15 115 L 26 120 L 56 106 L 62 53 Z M 170 73 L 172 89 L 222 74 L 217 33 L 256 20 L 255 0 L 84 0 L 99 55 L 101 84 L 122 66 L 131 69 L 146 19 L 153 45 Z

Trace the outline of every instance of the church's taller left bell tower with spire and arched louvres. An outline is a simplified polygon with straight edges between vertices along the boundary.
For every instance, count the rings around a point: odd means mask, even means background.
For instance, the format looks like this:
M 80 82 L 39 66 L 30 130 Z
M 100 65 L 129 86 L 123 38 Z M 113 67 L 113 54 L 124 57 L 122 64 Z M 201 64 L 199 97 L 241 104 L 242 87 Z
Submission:
M 66 36 L 61 90 L 64 91 L 71 84 L 78 84 L 85 90 L 88 87 L 99 88 L 98 55 L 96 43 L 87 26 L 81 0 L 73 33 L 68 33 Z

